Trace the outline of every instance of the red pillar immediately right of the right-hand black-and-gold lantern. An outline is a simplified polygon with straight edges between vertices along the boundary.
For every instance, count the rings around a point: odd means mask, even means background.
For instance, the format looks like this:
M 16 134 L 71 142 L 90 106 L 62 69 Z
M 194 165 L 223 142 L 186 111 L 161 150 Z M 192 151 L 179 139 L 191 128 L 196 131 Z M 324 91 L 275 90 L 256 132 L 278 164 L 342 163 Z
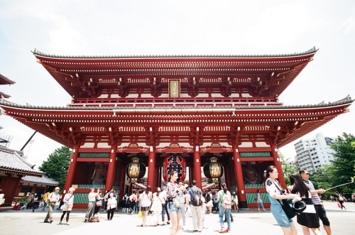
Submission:
M 236 187 L 238 190 L 239 207 L 246 208 L 247 204 L 246 204 L 243 172 L 241 170 L 241 156 L 239 154 L 239 149 L 235 145 L 233 145 L 233 163 L 234 163 L 234 172 L 236 173 Z

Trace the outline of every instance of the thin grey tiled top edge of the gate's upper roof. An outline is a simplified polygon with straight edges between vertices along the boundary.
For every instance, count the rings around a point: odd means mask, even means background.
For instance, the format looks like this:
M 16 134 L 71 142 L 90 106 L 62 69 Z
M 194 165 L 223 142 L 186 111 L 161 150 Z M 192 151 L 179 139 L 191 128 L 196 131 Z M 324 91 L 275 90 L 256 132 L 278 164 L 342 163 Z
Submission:
M 99 58 L 275 58 L 275 57 L 290 57 L 290 56 L 300 56 L 300 55 L 309 55 L 316 53 L 318 49 L 315 47 L 310 50 L 306 50 L 302 53 L 293 53 L 293 54 L 275 54 L 275 55 L 50 55 L 42 53 L 39 50 L 35 49 L 32 51 L 34 55 L 40 55 L 48 58 L 80 58 L 80 59 L 99 59 Z

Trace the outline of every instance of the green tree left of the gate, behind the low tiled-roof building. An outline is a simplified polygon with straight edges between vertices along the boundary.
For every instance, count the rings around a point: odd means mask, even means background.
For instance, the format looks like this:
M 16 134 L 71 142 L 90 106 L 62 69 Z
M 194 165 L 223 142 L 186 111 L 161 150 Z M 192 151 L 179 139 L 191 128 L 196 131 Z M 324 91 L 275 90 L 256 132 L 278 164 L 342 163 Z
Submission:
M 54 153 L 51 153 L 47 160 L 43 161 L 39 167 L 45 173 L 45 176 L 59 182 L 58 187 L 60 189 L 65 184 L 71 155 L 72 151 L 70 151 L 70 148 L 62 146 L 55 149 Z

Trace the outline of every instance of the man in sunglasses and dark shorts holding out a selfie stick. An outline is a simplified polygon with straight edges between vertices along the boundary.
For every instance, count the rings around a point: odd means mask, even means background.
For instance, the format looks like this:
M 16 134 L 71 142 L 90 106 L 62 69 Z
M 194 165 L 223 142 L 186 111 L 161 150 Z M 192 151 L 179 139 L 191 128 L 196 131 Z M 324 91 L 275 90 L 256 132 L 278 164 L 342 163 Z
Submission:
M 332 235 L 332 229 L 330 229 L 330 222 L 327 217 L 327 212 L 325 212 L 322 202 L 320 201 L 320 197 L 318 197 L 317 195 L 317 193 L 323 194 L 325 190 L 315 190 L 315 185 L 313 185 L 313 183 L 310 181 L 310 173 L 308 173 L 307 170 L 300 170 L 299 173 L 302 177 L 302 181 L 310 189 L 310 192 L 312 194 L 312 202 L 315 206 L 315 212 L 317 213 L 318 218 L 322 220 L 324 230 L 327 232 L 328 235 Z

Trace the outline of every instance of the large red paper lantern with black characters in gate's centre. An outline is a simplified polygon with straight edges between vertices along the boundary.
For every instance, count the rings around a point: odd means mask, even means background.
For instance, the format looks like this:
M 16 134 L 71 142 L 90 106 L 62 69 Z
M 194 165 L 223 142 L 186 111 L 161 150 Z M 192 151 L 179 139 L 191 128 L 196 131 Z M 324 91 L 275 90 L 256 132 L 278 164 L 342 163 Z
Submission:
M 168 155 L 163 160 L 163 178 L 168 182 L 168 174 L 175 170 L 178 172 L 178 181 L 184 181 L 186 177 L 186 160 L 180 155 Z

